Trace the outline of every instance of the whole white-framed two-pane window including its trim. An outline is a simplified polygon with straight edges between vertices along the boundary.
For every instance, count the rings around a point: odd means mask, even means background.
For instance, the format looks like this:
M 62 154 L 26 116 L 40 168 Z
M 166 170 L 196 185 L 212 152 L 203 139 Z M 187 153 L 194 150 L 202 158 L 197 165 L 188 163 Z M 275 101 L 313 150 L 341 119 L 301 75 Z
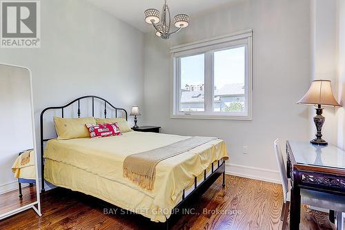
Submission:
M 251 119 L 252 30 L 172 53 L 172 118 Z

